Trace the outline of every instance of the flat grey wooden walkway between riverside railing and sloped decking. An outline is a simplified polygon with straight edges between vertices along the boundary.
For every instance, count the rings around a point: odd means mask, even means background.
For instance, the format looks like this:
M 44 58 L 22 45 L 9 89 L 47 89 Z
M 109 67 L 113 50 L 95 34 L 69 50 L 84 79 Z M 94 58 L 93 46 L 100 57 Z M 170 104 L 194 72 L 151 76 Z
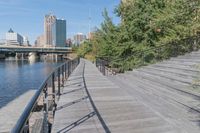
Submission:
M 184 131 L 144 101 L 127 92 L 123 86 L 120 88 L 111 82 L 94 64 L 81 60 L 63 88 L 52 132 L 182 133 Z M 195 130 L 193 132 L 195 133 Z

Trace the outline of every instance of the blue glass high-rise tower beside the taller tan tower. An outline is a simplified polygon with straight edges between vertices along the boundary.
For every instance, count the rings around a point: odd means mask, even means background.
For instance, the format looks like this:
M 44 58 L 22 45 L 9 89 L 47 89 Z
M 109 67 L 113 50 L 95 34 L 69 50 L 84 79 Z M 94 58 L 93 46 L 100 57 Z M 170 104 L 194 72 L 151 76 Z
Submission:
M 66 46 L 66 20 L 56 19 L 52 25 L 52 40 L 53 46 L 65 47 Z

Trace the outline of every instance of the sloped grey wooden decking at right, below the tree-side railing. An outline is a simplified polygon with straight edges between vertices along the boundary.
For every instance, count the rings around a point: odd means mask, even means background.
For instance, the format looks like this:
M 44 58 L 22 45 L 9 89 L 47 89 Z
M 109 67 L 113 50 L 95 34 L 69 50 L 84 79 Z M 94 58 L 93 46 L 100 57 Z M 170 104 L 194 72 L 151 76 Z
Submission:
M 200 132 L 200 51 L 108 78 L 183 133 Z

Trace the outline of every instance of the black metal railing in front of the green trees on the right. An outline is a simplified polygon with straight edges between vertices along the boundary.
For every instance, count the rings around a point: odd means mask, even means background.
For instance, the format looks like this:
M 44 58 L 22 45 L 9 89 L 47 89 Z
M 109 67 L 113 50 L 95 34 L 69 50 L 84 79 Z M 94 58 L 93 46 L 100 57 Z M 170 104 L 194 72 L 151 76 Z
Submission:
M 140 66 L 145 66 L 149 63 L 162 61 L 169 59 L 170 57 L 176 57 L 178 55 L 183 55 L 195 50 L 200 49 L 200 35 L 194 37 L 185 38 L 177 42 L 172 42 L 164 45 L 159 45 L 155 47 L 150 47 L 148 49 L 135 51 L 130 54 L 124 53 L 121 57 L 97 57 L 96 66 L 99 68 L 103 75 L 116 74 L 118 72 L 123 72 L 117 69 L 119 66 L 114 64 L 115 68 L 111 68 L 110 64 L 113 62 L 121 62 L 123 65 L 125 62 L 131 62 L 133 59 L 135 64 L 128 64 L 127 68 L 138 68 Z M 124 62 L 124 63 L 123 63 Z M 132 66 L 130 66 L 132 65 Z M 108 69 L 108 70 L 107 70 Z

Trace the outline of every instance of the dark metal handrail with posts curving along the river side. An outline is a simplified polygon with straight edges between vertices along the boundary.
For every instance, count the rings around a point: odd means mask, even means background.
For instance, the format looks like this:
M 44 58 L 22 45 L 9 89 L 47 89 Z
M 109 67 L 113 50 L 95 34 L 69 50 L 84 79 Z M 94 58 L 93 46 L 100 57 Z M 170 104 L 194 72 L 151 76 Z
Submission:
M 64 80 L 69 77 L 69 75 L 72 73 L 72 71 L 76 68 L 76 66 L 79 64 L 80 59 L 76 58 L 74 60 L 67 61 L 66 63 L 63 63 L 62 65 L 58 66 L 54 69 L 53 72 L 49 74 L 49 76 L 43 81 L 37 92 L 32 97 L 29 104 L 26 106 L 24 112 L 18 119 L 17 123 L 15 124 L 14 128 L 12 129 L 12 133 L 26 133 L 30 130 L 29 125 L 29 119 L 32 115 L 32 113 L 37 112 L 37 108 L 39 107 L 38 102 L 41 100 L 41 97 L 43 98 L 42 101 L 42 109 L 39 111 L 43 111 L 43 122 L 41 125 L 43 128 L 43 132 L 49 132 L 49 119 L 48 115 L 49 112 L 55 112 L 56 109 L 56 96 L 60 96 L 60 88 L 64 86 Z M 57 84 L 57 87 L 55 87 L 55 84 Z M 57 93 L 56 90 L 57 89 Z M 49 92 L 52 92 L 51 95 L 49 95 Z M 53 109 L 49 106 L 49 99 L 51 98 L 51 102 L 53 103 Z M 45 123 L 46 121 L 46 123 Z

